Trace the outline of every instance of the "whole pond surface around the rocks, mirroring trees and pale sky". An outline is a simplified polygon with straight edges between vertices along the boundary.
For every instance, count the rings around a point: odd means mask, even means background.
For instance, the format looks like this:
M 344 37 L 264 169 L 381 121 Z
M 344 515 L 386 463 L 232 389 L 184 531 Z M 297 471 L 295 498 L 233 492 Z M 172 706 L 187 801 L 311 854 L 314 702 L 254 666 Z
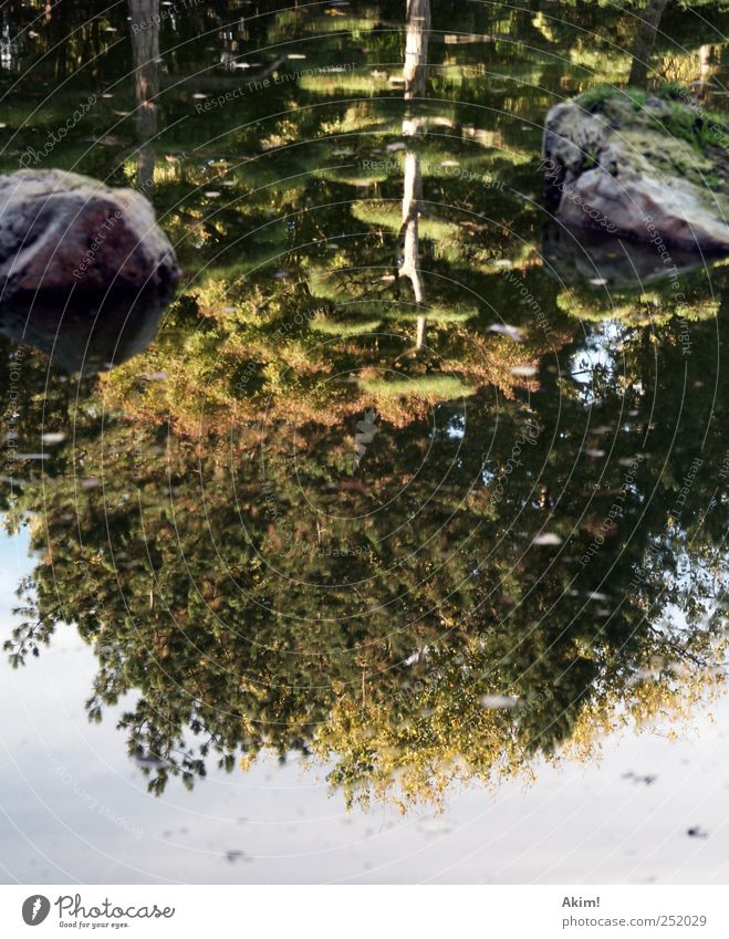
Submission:
M 149 195 L 185 280 L 110 306 L 121 344 L 0 315 L 35 347 L 6 444 L 43 458 L 2 482 L 9 879 L 723 876 L 729 269 L 681 261 L 678 302 L 649 250 L 545 225 L 544 113 L 625 81 L 629 18 L 425 6 L 407 38 L 386 3 L 90 35 L 53 163 Z M 668 15 L 674 77 L 714 7 Z M 24 42 L 45 97 L 70 63 Z M 219 103 L 243 60 L 287 80 Z M 4 169 L 75 94 L 40 128 L 20 92 Z M 681 742 L 617 743 L 626 711 Z

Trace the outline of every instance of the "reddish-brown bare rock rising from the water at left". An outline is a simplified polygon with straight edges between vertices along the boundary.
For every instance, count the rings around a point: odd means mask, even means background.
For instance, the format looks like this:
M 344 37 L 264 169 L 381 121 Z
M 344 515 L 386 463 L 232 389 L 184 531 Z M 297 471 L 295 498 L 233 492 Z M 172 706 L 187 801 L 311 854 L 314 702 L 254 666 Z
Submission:
M 175 251 L 133 189 L 60 169 L 0 176 L 0 299 L 107 290 L 169 292 Z

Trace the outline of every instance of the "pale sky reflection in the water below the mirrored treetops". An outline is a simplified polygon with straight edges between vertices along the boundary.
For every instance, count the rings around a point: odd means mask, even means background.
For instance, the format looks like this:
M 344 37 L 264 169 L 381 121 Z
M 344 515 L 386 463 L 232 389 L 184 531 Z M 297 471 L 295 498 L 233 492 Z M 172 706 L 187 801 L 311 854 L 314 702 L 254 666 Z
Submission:
M 27 570 L 6 542 L 3 591 Z M 18 554 L 15 555 L 14 552 Z M 4 593 L 7 596 L 7 593 Z M 7 605 L 2 622 L 7 623 Z M 498 799 L 471 786 L 444 814 L 345 813 L 293 757 L 211 773 L 150 800 L 106 726 L 80 707 L 94 660 L 71 630 L 53 656 L 0 686 L 0 834 L 25 883 L 723 883 L 727 703 L 679 741 L 624 738 L 600 766 L 544 768 Z M 645 778 L 655 775 L 650 784 Z M 666 806 L 670 805 L 670 822 Z M 700 826 L 708 838 L 691 838 Z

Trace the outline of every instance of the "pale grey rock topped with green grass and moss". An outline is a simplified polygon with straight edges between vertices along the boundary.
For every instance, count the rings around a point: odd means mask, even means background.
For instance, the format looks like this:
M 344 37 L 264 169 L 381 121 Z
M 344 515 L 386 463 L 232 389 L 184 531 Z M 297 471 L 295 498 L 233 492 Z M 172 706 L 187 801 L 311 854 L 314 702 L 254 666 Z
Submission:
M 587 92 L 546 115 L 546 195 L 566 225 L 729 252 L 728 144 L 729 128 L 697 105 Z

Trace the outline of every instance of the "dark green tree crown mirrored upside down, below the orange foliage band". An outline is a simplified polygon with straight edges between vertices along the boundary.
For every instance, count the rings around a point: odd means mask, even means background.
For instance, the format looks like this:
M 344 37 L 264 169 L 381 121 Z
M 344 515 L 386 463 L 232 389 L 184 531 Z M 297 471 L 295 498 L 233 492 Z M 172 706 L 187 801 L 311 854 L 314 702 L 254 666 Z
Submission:
M 694 343 L 696 374 L 718 367 L 708 325 Z M 102 436 L 86 416 L 63 476 L 28 482 L 13 507 L 39 519 L 45 555 L 10 651 L 76 622 L 100 661 L 90 716 L 139 690 L 121 726 L 131 752 L 163 761 L 156 790 L 265 747 L 327 757 L 351 796 L 437 799 L 455 776 L 586 753 L 626 714 L 675 714 L 720 653 L 726 494 L 706 507 L 723 415 L 702 448 L 691 415 L 712 389 L 686 397 L 680 349 L 664 342 L 656 394 L 688 417 L 677 434 L 650 428 L 653 392 L 634 376 L 654 355 L 626 346 L 624 395 L 597 375 L 589 406 L 565 385 L 559 400 L 501 408 L 496 435 L 487 395 L 466 424 L 448 406 L 435 427 L 382 428 L 358 488 L 340 486 L 346 428 L 294 438 L 275 424 L 262 440 L 251 425 L 231 458 L 229 444 L 200 449 L 123 418 Z M 597 447 L 608 461 L 587 455 Z M 543 532 L 563 544 L 534 544 Z

